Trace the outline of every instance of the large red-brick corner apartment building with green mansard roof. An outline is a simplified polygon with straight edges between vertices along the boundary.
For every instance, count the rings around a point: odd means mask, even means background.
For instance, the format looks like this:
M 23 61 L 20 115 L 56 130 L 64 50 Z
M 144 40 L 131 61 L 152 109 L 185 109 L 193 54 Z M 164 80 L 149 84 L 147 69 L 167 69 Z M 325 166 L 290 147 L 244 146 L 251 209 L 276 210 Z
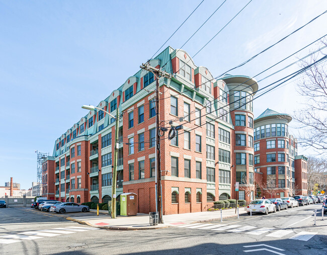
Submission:
M 160 141 L 163 214 L 203 211 L 235 198 L 235 181 L 239 199 L 253 199 L 256 80 L 229 74 L 215 80 L 187 52 L 171 47 L 149 63 L 176 72 L 159 78 L 160 125 L 183 125 L 174 139 L 165 132 Z M 113 115 L 117 107 L 123 112 L 116 196 L 136 193 L 140 213 L 155 210 L 154 89 L 153 74 L 139 70 L 98 105 Z M 63 133 L 43 161 L 43 195 L 77 203 L 111 200 L 114 134 L 114 118 L 97 110 Z

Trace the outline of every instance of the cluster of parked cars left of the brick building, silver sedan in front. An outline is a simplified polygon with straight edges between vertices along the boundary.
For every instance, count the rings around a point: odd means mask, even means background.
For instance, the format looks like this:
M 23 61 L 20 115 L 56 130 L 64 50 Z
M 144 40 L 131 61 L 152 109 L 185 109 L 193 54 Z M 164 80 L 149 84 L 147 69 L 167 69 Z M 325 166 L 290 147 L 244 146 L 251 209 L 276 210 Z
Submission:
M 40 199 L 31 204 L 31 208 L 39 209 L 44 212 L 89 212 L 90 208 L 86 205 L 78 205 L 73 202 L 60 202 L 56 200 Z

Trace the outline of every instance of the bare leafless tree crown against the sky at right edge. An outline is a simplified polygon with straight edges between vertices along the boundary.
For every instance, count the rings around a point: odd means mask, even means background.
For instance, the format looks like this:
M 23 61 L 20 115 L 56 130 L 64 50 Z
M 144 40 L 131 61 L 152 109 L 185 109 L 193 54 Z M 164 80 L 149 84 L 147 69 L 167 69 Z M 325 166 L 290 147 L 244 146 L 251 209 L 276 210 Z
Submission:
M 327 46 L 327 41 L 320 42 L 320 49 Z M 322 46 L 322 47 L 321 47 Z M 310 60 L 303 60 L 301 66 L 311 64 L 321 56 L 323 50 L 311 55 Z M 313 147 L 322 153 L 327 152 L 327 66 L 325 62 L 312 65 L 305 71 L 298 92 L 305 97 L 303 108 L 294 113 L 294 119 L 302 129 L 299 142 L 304 147 Z

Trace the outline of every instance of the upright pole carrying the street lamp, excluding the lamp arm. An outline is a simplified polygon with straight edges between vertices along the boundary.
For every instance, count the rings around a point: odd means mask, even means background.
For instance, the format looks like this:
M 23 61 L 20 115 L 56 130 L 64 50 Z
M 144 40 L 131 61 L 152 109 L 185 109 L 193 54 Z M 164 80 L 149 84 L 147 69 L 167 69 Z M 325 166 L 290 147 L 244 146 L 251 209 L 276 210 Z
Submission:
M 115 155 L 114 155 L 114 167 L 112 170 L 112 203 L 111 203 L 111 218 L 116 219 L 116 186 L 117 186 L 117 163 L 118 163 L 118 131 L 119 131 L 119 107 L 116 111 L 116 126 L 115 126 Z

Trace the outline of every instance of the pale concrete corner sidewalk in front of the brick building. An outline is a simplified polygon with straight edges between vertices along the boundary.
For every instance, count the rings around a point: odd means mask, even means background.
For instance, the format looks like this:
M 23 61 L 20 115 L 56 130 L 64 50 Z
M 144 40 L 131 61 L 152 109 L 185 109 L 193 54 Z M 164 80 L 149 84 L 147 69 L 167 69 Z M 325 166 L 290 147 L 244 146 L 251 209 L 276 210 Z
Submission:
M 96 211 L 96 210 L 90 210 Z M 246 207 L 239 208 L 239 214 L 247 213 Z M 222 210 L 222 218 L 236 217 L 235 208 Z M 158 224 L 150 226 L 149 215 L 138 213 L 137 216 L 117 216 L 112 219 L 108 211 L 100 210 L 99 216 L 81 216 L 81 217 L 68 217 L 68 220 L 76 221 L 81 224 L 89 226 L 100 227 L 113 230 L 144 230 L 144 229 L 157 229 L 167 228 L 174 226 L 181 226 L 183 224 L 190 224 L 196 222 L 208 222 L 213 220 L 220 220 L 220 210 L 212 212 L 196 212 L 184 214 L 171 214 L 163 215 L 165 224 Z

